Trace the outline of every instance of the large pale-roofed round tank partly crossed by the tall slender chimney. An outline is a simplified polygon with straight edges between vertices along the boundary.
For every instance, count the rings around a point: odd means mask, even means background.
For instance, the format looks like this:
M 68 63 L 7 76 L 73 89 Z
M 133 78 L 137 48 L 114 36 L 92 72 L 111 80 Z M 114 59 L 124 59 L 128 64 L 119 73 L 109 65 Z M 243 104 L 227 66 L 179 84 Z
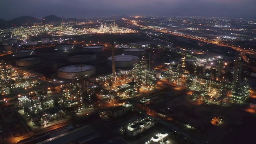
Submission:
M 140 62 L 140 58 L 138 56 L 117 55 L 114 57 L 115 57 L 115 66 L 118 68 L 133 67 L 134 64 Z M 112 66 L 112 56 L 108 57 L 108 65 Z

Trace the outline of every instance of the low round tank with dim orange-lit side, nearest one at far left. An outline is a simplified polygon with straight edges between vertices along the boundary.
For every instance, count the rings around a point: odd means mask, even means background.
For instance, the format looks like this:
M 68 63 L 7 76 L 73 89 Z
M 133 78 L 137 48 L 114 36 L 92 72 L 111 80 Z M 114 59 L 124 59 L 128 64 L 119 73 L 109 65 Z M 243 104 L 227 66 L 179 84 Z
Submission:
M 41 62 L 39 56 L 26 56 L 15 60 L 16 66 L 30 66 Z

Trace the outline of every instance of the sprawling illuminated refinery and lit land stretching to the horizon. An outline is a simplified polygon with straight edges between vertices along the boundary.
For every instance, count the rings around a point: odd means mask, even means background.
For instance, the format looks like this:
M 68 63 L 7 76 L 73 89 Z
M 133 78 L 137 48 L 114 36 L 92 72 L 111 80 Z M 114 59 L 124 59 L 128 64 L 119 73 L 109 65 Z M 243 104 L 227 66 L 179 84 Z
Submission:
M 0 29 L 0 143 L 254 143 L 255 19 L 50 17 Z

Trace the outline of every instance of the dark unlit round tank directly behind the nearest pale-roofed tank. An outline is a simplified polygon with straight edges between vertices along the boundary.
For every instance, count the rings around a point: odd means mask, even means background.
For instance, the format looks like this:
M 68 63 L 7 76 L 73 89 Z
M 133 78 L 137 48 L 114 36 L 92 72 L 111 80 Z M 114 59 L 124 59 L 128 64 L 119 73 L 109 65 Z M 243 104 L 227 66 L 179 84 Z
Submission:
M 68 54 L 69 62 L 88 62 L 92 60 L 96 60 L 95 52 L 74 52 Z

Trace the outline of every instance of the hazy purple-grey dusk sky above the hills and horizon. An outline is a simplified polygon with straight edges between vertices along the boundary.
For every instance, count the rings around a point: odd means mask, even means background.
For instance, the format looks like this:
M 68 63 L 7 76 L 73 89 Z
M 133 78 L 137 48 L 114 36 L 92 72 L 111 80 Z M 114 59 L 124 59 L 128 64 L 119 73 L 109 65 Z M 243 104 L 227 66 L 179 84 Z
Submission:
M 0 18 L 99 16 L 256 17 L 256 0 L 0 0 Z

